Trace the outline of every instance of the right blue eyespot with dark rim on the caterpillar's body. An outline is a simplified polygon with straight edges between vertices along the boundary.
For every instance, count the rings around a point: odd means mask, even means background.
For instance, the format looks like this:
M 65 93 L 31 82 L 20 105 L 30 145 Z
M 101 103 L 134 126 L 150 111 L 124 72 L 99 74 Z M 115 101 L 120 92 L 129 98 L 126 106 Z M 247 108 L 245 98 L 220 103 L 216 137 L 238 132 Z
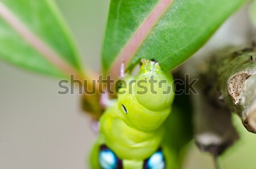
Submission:
M 156 151 L 150 158 L 144 160 L 143 169 L 164 169 L 166 162 L 162 150 Z

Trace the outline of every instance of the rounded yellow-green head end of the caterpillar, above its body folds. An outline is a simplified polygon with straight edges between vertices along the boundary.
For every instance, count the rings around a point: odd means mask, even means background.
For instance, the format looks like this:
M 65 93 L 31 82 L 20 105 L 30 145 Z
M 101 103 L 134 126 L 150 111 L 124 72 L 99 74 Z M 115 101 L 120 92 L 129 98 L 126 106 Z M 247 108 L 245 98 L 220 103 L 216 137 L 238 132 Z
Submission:
M 142 60 L 139 74 L 125 78 L 126 85 L 118 92 L 118 108 L 123 120 L 145 131 L 159 128 L 171 111 L 172 81 L 171 74 L 157 62 Z

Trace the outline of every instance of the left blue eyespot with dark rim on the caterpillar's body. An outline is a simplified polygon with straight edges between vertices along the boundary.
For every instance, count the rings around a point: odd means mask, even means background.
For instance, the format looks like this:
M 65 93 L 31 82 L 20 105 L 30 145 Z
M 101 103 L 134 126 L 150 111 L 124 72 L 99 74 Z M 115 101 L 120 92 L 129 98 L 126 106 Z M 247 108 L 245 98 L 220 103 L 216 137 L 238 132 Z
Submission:
M 102 169 L 122 168 L 122 161 L 105 145 L 101 145 L 98 162 Z

